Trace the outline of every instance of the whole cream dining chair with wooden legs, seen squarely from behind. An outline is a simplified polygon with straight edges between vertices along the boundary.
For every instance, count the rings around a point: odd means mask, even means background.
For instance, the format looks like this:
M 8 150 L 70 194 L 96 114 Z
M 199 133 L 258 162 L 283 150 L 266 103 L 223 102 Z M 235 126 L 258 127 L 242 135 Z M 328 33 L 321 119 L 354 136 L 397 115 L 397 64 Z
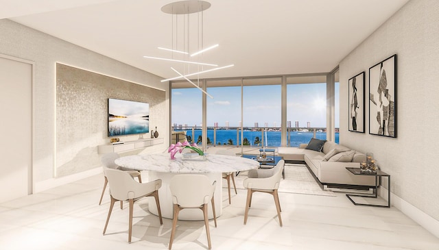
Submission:
M 172 203 L 174 203 L 174 219 L 172 221 L 171 238 L 169 239 L 169 250 L 172 247 L 172 242 L 176 234 L 178 213 L 180 210 L 186 208 L 200 208 L 203 211 L 207 242 L 209 249 L 211 249 L 211 234 L 209 231 L 207 207 L 209 201 L 211 201 L 213 221 L 215 221 L 215 227 L 217 227 L 215 201 L 213 199 L 215 184 L 215 182 L 211 183 L 206 175 L 183 174 L 175 175 L 171 178 L 169 189 L 171 190 Z

